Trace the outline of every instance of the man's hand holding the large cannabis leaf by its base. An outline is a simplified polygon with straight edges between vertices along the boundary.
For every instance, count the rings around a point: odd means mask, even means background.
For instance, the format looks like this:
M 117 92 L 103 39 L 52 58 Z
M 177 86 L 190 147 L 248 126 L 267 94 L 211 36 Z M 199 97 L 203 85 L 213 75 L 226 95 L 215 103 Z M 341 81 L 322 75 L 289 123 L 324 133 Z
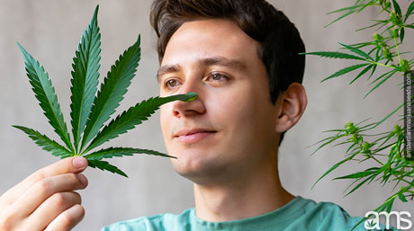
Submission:
M 70 230 L 85 215 L 76 190 L 85 189 L 87 161 L 70 157 L 50 164 L 0 197 L 0 231 Z

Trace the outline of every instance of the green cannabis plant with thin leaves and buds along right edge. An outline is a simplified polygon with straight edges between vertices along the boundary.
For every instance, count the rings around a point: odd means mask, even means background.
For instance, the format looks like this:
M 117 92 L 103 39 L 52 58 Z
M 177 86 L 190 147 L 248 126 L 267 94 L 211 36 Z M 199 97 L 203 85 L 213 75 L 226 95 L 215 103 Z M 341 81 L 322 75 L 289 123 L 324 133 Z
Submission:
M 411 68 L 414 66 L 414 58 L 410 56 L 410 50 L 402 51 L 401 44 L 405 38 L 406 31 L 414 29 L 414 22 L 410 21 L 410 15 L 414 12 L 414 1 L 409 1 L 409 6 L 406 11 L 401 9 L 401 4 L 397 0 L 357 0 L 355 4 L 338 9 L 331 13 L 340 13 L 340 16 L 333 22 L 338 22 L 348 15 L 353 13 L 361 13 L 367 7 L 376 7 L 383 16 L 382 20 L 373 20 L 373 24 L 368 25 L 361 30 L 375 29 L 371 40 L 360 42 L 357 44 L 347 45 L 339 43 L 341 51 L 318 51 L 304 53 L 306 55 L 315 55 L 322 58 L 339 58 L 352 59 L 356 61 L 355 65 L 345 67 L 338 70 L 334 74 L 322 80 L 326 81 L 338 76 L 344 76 L 350 72 L 357 71 L 356 76 L 349 84 L 353 84 L 362 76 L 367 76 L 374 86 L 365 94 L 367 97 L 374 90 L 378 89 L 382 84 L 392 77 L 401 78 L 401 76 L 408 75 Z M 405 12 L 405 13 L 403 13 Z M 328 25 L 327 25 L 328 26 Z M 412 40 L 412 39 L 411 39 Z M 377 69 L 379 68 L 381 71 Z M 384 71 L 383 71 L 384 70 Z M 411 71 L 412 73 L 412 71 Z M 371 79 L 376 76 L 374 79 Z M 410 75 L 412 76 L 412 75 Z M 407 85 L 401 84 L 401 88 Z M 402 94 L 402 91 L 399 90 Z M 365 98 L 364 97 L 364 98 Z M 412 105 L 413 98 L 410 98 Z M 334 164 L 324 173 L 317 182 L 329 173 L 337 169 L 340 165 L 348 162 L 362 163 L 371 161 L 373 166 L 361 172 L 350 173 L 336 179 L 351 179 L 353 182 L 347 187 L 347 195 L 359 189 L 365 183 L 378 182 L 384 185 L 389 182 L 394 183 L 392 191 L 398 187 L 398 191 L 393 193 L 387 200 L 379 205 L 374 211 L 381 212 L 392 210 L 394 200 L 399 199 L 402 202 L 408 202 L 414 199 L 414 161 L 410 158 L 405 158 L 404 144 L 407 138 L 404 136 L 405 125 L 401 125 L 401 120 L 404 119 L 405 114 L 401 114 L 401 119 L 395 122 L 393 128 L 389 128 L 381 133 L 375 132 L 384 120 L 389 120 L 392 115 L 401 112 L 406 103 L 402 102 L 397 105 L 388 115 L 384 116 L 382 120 L 368 123 L 367 120 L 361 122 L 347 122 L 341 129 L 332 129 L 334 135 L 329 138 L 324 138 L 318 143 L 320 146 L 313 152 L 320 150 L 330 144 L 335 146 L 347 146 L 345 158 Z M 369 120 L 369 119 L 368 119 Z M 312 154 L 313 154 L 312 153 Z M 317 183 L 315 182 L 313 186 Z M 312 187 L 313 188 L 313 187 Z M 360 220 L 362 223 L 366 218 Z M 356 227 L 355 226 L 355 227 Z M 353 227 L 353 229 L 355 228 Z

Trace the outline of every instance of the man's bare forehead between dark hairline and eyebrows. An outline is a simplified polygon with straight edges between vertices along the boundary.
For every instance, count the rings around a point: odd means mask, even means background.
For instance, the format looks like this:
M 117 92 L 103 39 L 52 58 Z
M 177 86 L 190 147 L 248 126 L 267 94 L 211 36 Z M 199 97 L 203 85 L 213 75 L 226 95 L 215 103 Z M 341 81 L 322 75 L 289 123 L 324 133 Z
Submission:
M 259 43 L 242 31 L 236 22 L 210 19 L 185 22 L 172 35 L 157 72 L 160 76 L 185 67 L 230 67 L 246 69 L 257 63 Z

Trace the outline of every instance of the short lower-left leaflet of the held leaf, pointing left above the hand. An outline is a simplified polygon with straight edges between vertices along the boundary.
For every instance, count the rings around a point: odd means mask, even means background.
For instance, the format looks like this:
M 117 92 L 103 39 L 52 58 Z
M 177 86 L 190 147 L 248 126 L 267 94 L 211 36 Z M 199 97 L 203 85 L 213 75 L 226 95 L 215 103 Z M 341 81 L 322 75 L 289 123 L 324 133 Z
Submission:
M 73 153 L 68 151 L 65 147 L 59 145 L 58 142 L 40 134 L 37 130 L 18 125 L 13 125 L 13 127 L 23 130 L 23 132 L 29 135 L 29 138 L 31 138 L 38 146 L 43 150 L 50 152 L 52 155 L 60 156 L 61 158 L 73 155 Z

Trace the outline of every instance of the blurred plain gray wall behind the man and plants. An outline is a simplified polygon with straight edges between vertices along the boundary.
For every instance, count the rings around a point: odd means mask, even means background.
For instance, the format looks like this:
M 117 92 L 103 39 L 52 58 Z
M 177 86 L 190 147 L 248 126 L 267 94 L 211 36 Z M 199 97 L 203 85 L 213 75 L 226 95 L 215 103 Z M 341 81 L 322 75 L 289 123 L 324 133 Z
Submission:
M 157 95 L 157 55 L 155 34 L 148 22 L 149 0 L 146 1 L 81 1 L 81 0 L 0 0 L 0 194 L 42 166 L 58 159 L 41 150 L 22 131 L 10 125 L 18 124 L 52 134 L 23 67 L 23 58 L 16 46 L 19 41 L 49 72 L 58 93 L 62 111 L 69 121 L 70 71 L 77 43 L 90 21 L 94 6 L 100 4 L 98 15 L 102 32 L 101 77 L 105 76 L 118 55 L 141 34 L 142 58 L 138 76 L 118 111 L 136 102 Z M 338 41 L 351 44 L 371 38 L 373 31 L 356 32 L 377 17 L 372 9 L 355 15 L 326 29 L 324 25 L 337 15 L 329 11 L 352 4 L 353 1 L 272 0 L 282 9 L 302 33 L 308 51 L 337 50 Z M 405 10 L 408 1 L 400 1 Z M 413 48 L 413 34 L 406 35 L 407 48 Z M 303 85 L 308 93 L 308 107 L 302 120 L 289 132 L 280 149 L 280 174 L 284 187 L 294 195 L 316 201 L 332 201 L 352 216 L 363 217 L 392 194 L 392 187 L 372 182 L 346 198 L 343 191 L 350 182 L 331 181 L 335 176 L 368 168 L 369 164 L 347 164 L 319 182 L 311 185 L 329 167 L 337 163 L 345 147 L 324 148 L 311 156 L 316 147 L 308 147 L 321 138 L 323 130 L 341 128 L 347 120 L 380 120 L 402 102 L 397 87 L 398 77 L 362 100 L 368 91 L 363 78 L 348 85 L 352 75 L 320 83 L 346 67 L 342 61 L 307 57 Z M 395 118 L 394 118 L 395 119 Z M 393 128 L 395 120 L 384 123 L 382 130 Z M 55 137 L 54 137 L 55 138 Z M 146 147 L 166 151 L 161 136 L 158 114 L 138 129 L 112 141 L 112 146 Z M 112 159 L 130 178 L 95 169 L 86 170 L 89 186 L 81 191 L 86 209 L 84 221 L 75 230 L 99 230 L 110 223 L 144 215 L 180 213 L 193 207 L 191 182 L 179 177 L 161 157 L 136 156 Z M 395 202 L 394 210 L 408 210 L 414 216 L 412 202 Z

